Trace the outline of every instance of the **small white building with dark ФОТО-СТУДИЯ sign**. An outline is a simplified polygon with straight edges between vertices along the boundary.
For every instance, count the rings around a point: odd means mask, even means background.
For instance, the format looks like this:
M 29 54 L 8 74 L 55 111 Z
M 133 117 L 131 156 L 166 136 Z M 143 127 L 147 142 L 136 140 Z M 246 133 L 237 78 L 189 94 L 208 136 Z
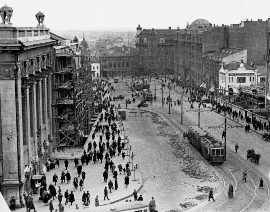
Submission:
M 219 92 L 224 93 L 224 90 L 229 90 L 237 93 L 239 87 L 250 86 L 258 83 L 258 69 L 252 66 L 239 62 L 231 62 L 219 70 Z M 228 92 L 225 92 L 228 95 Z

